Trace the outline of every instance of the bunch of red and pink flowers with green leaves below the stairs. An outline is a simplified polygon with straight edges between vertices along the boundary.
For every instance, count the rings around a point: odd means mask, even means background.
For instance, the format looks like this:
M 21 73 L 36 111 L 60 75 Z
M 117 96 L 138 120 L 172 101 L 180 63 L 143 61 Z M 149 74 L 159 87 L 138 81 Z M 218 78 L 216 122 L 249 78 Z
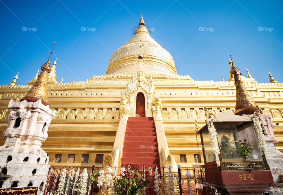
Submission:
M 141 177 L 139 172 L 121 168 L 120 176 L 113 178 L 114 191 L 117 195 L 141 195 L 147 186 L 147 181 Z

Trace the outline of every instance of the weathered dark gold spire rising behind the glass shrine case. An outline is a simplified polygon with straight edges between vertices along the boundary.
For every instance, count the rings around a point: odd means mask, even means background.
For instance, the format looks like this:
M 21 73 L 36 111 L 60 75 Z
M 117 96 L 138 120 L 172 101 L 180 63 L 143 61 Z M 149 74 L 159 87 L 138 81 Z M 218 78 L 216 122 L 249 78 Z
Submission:
M 256 103 L 248 94 L 246 88 L 241 80 L 241 72 L 238 70 L 232 61 L 229 59 L 231 65 L 231 75 L 233 75 L 236 85 L 236 115 L 253 114 L 257 109 Z

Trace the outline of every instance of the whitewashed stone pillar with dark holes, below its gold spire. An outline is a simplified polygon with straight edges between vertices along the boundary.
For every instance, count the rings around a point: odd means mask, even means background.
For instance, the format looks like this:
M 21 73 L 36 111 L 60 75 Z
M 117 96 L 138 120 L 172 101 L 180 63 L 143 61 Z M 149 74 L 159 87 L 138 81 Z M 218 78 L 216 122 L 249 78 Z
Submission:
M 50 165 L 47 153 L 41 149 L 48 136 L 47 130 L 55 112 L 49 105 L 37 102 L 10 100 L 10 116 L 0 146 L 2 188 L 38 186 L 43 194 Z M 1 182 L 1 181 L 0 181 Z

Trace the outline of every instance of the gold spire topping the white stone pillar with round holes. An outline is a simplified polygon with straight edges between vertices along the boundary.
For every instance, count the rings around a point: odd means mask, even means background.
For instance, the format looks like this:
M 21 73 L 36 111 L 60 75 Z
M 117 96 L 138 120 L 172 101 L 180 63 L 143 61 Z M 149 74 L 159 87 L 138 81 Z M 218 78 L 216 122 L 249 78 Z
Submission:
M 51 70 L 51 68 L 50 68 L 50 57 L 51 57 L 54 45 L 55 45 L 55 41 L 53 43 L 53 47 L 52 47 L 52 50 L 50 52 L 50 56 L 49 56 L 47 62 L 45 62 L 45 64 L 43 64 L 41 66 L 42 71 L 41 71 L 40 75 L 38 75 L 36 82 L 34 83 L 32 88 L 29 90 L 29 92 L 27 92 L 27 95 L 24 98 L 21 99 L 21 101 L 27 100 L 28 102 L 36 102 L 37 100 L 41 100 L 41 102 L 44 105 L 48 105 L 47 81 L 48 81 L 48 73 Z

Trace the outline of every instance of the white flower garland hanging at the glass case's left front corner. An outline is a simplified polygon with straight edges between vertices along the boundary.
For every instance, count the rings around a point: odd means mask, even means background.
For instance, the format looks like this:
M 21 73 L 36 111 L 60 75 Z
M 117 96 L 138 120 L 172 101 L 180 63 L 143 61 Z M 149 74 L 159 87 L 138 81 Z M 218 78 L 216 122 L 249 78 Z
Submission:
M 217 132 L 213 126 L 212 120 L 207 121 L 207 127 L 208 127 L 208 136 L 210 138 L 211 151 L 213 155 L 215 156 L 215 161 L 216 161 L 217 166 L 220 166 L 220 160 L 219 160 L 220 150 L 218 147 Z

